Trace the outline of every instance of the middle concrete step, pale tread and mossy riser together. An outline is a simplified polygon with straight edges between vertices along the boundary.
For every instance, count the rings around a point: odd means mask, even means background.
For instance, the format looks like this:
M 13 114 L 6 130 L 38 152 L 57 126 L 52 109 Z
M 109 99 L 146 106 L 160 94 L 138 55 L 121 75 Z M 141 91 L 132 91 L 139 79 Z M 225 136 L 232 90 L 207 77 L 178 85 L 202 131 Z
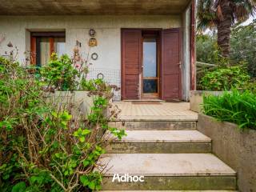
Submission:
M 121 141 L 114 139 L 110 154 L 210 153 L 211 139 L 198 130 L 126 130 Z

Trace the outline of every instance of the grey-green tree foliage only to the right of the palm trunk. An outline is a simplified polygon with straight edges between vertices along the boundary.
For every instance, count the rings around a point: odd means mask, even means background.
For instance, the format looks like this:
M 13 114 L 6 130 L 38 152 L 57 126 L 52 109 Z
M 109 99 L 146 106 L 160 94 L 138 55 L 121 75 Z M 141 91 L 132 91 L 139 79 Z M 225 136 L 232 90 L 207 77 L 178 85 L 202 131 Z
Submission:
M 234 26 L 230 38 L 230 60 L 248 64 L 251 77 L 256 78 L 256 20 L 248 26 Z

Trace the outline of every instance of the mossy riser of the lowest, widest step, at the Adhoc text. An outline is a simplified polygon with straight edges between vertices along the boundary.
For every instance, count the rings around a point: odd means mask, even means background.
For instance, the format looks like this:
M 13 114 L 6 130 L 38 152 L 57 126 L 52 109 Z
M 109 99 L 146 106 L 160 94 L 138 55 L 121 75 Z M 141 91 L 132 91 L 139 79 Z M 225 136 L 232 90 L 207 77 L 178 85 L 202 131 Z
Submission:
M 233 176 L 145 177 L 145 182 L 112 182 L 104 177 L 102 190 L 236 190 Z

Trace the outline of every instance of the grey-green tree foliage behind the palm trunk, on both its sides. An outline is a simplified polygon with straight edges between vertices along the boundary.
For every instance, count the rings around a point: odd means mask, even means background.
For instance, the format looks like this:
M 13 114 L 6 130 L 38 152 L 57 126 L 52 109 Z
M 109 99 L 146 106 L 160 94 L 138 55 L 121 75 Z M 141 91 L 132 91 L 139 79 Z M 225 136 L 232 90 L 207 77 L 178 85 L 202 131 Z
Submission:
M 218 53 L 217 38 L 214 34 L 197 34 L 197 61 L 216 64 L 217 66 L 236 66 L 239 62 L 246 62 L 252 78 L 256 77 L 256 20 L 249 26 L 234 26 L 230 38 L 230 60 L 222 59 Z M 204 74 L 198 75 L 198 82 Z M 200 86 L 200 85 L 199 85 Z

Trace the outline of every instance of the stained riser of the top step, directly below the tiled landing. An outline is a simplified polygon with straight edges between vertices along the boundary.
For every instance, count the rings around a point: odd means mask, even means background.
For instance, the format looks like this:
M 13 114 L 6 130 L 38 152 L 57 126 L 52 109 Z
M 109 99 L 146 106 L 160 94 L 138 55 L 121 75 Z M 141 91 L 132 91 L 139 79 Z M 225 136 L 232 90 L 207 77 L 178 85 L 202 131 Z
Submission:
M 155 122 L 155 121 L 136 121 L 136 122 L 109 122 L 110 126 L 126 130 L 196 130 L 196 122 Z

